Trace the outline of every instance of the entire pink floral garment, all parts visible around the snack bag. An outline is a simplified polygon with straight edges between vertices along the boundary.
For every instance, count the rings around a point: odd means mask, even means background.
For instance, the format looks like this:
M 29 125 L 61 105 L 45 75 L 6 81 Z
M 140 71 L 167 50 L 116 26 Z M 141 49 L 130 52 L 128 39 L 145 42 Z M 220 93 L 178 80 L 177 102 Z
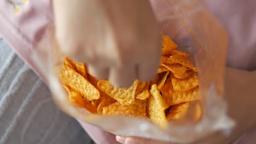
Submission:
M 202 0 L 220 20 L 230 36 L 228 65 L 234 68 L 256 69 L 256 1 Z M 13 2 L 21 2 L 16 0 Z M 72 2 L 72 1 L 71 1 Z M 16 7 L 17 8 L 17 7 Z M 21 12 L 19 13 L 19 9 Z M 31 52 L 42 37 L 46 26 L 53 22 L 50 0 L 29 1 L 15 9 L 8 1 L 0 0 L 0 35 L 8 41 L 20 57 L 34 69 Z M 37 73 L 38 71 L 34 69 Z M 38 73 L 38 75 L 40 75 Z M 42 75 L 40 75 L 42 76 Z M 96 143 L 118 143 L 113 134 L 90 124 L 82 123 Z M 256 129 L 236 141 L 256 143 Z

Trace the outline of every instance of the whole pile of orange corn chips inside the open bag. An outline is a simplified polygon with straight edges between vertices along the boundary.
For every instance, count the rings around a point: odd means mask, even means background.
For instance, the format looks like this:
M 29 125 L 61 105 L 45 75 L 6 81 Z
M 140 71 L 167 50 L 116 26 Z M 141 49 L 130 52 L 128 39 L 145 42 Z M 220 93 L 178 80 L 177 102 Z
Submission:
M 162 35 L 162 56 L 155 79 L 136 80 L 130 88 L 115 88 L 108 80 L 98 80 L 86 65 L 65 59 L 60 74 L 69 101 L 91 113 L 148 118 L 158 125 L 184 118 L 190 105 L 195 106 L 193 119 L 201 117 L 199 81 L 188 53 L 166 35 Z

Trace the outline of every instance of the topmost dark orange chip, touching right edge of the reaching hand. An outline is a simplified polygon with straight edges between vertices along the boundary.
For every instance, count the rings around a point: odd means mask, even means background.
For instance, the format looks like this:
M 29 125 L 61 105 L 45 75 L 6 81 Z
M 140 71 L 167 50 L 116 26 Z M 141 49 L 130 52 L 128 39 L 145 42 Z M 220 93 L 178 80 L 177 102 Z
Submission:
M 162 55 L 171 55 L 171 52 L 178 47 L 167 35 L 162 35 Z

